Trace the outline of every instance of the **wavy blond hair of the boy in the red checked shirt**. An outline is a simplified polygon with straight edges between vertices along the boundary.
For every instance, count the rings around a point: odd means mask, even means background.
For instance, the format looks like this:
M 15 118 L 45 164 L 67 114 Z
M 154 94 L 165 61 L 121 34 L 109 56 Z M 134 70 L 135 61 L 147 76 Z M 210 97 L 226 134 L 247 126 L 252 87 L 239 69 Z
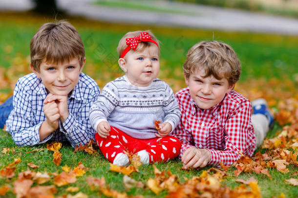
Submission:
M 192 46 L 183 65 L 186 78 L 203 68 L 204 78 L 214 76 L 217 80 L 226 78 L 229 85 L 235 84 L 240 77 L 241 65 L 233 48 L 218 41 L 201 41 Z

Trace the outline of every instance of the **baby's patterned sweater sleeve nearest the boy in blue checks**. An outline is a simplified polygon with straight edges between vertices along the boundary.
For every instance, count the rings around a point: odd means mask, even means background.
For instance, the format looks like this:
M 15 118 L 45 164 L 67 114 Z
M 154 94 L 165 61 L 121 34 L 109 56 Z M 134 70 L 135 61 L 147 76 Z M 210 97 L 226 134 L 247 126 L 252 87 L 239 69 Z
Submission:
M 90 108 L 89 118 L 95 131 L 97 131 L 97 125 L 101 121 L 107 120 L 107 117 L 115 109 L 118 103 L 118 89 L 113 82 L 109 82 Z

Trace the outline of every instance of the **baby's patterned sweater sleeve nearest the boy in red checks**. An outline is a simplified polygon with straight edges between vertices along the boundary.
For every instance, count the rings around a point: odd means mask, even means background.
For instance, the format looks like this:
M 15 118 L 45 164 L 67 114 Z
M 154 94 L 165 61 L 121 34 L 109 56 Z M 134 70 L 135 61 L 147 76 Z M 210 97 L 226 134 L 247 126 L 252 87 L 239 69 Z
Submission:
M 174 96 L 174 93 L 169 85 L 166 85 L 165 99 L 163 104 L 163 110 L 165 112 L 164 122 L 169 122 L 172 126 L 172 131 L 177 127 L 181 117 L 181 111 L 178 102 Z M 171 131 L 171 132 L 172 132 Z

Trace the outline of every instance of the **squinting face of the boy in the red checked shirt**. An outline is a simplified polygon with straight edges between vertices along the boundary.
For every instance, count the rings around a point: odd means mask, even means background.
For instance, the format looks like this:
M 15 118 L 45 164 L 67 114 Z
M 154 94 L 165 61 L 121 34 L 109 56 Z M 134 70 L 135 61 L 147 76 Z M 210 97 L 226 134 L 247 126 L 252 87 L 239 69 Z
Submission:
M 190 87 L 190 94 L 196 105 L 204 110 L 217 105 L 230 92 L 234 85 L 229 85 L 226 78 L 217 80 L 213 76 L 203 78 L 204 69 L 198 69 L 189 78 L 185 77 L 186 84 Z

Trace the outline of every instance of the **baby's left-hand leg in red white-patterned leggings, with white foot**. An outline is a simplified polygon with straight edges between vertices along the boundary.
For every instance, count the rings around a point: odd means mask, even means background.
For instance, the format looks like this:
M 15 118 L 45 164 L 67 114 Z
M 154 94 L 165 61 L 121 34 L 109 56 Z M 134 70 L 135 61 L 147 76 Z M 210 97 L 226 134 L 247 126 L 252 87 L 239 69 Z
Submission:
M 117 129 L 111 127 L 109 136 L 102 138 L 98 133 L 95 134 L 95 140 L 106 159 L 118 166 L 126 166 L 129 163 L 125 148 L 119 139 Z

